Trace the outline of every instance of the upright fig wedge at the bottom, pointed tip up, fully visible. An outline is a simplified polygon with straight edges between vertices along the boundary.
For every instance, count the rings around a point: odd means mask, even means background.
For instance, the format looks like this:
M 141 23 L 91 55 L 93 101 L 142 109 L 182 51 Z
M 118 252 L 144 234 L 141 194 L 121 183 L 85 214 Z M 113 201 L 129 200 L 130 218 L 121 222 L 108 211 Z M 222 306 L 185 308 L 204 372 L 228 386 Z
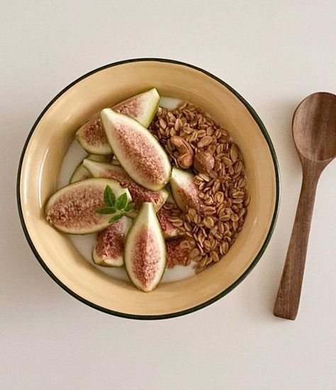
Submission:
M 154 205 L 142 204 L 125 242 L 125 268 L 133 284 L 148 292 L 155 289 L 166 268 L 166 245 Z

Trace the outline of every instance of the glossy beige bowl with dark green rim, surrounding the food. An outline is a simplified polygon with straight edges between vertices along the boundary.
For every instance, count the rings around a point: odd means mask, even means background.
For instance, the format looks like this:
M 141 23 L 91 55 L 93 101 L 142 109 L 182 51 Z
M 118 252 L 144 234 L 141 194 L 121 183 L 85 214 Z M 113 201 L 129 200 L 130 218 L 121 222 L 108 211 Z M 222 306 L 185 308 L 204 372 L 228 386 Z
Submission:
M 145 294 L 84 260 L 67 235 L 47 224 L 43 205 L 57 189 L 62 160 L 77 128 L 101 108 L 151 87 L 156 87 L 161 96 L 193 102 L 229 130 L 245 159 L 251 202 L 244 227 L 225 259 L 201 274 L 159 284 L 155 291 Z M 69 294 L 116 316 L 169 318 L 196 311 L 225 296 L 257 264 L 276 222 L 279 168 L 262 121 L 228 84 L 182 62 L 127 60 L 85 74 L 47 105 L 23 147 L 17 196 L 31 249 Z

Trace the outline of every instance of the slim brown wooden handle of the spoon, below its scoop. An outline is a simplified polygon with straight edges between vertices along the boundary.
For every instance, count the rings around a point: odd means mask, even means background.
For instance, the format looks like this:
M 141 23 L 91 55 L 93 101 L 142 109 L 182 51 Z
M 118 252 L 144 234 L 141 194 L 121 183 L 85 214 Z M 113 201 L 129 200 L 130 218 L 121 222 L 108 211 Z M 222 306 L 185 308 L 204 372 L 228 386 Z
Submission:
M 298 313 L 316 187 L 323 169 L 309 160 L 304 160 L 302 163 L 301 194 L 298 199 L 289 249 L 274 305 L 274 316 L 289 320 L 295 320 Z

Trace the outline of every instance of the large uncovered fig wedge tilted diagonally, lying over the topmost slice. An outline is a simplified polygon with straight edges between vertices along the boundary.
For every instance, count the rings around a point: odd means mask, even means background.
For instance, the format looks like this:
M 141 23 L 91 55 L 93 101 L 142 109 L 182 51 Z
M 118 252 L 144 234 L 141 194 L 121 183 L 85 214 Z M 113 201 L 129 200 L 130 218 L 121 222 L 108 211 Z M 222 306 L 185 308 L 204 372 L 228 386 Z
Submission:
M 152 191 L 162 189 L 169 181 L 172 167 L 150 131 L 111 108 L 101 111 L 101 123 L 116 158 L 129 176 Z

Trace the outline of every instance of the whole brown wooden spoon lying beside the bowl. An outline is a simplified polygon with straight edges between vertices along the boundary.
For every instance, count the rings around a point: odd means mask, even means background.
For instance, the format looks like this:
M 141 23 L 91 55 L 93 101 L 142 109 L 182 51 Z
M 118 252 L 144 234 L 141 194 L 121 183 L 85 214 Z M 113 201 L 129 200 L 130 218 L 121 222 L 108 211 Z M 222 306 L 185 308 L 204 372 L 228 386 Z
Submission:
M 336 156 L 336 96 L 316 92 L 298 105 L 293 115 L 293 138 L 301 160 L 303 181 L 274 316 L 295 320 L 316 187 L 320 174 Z

